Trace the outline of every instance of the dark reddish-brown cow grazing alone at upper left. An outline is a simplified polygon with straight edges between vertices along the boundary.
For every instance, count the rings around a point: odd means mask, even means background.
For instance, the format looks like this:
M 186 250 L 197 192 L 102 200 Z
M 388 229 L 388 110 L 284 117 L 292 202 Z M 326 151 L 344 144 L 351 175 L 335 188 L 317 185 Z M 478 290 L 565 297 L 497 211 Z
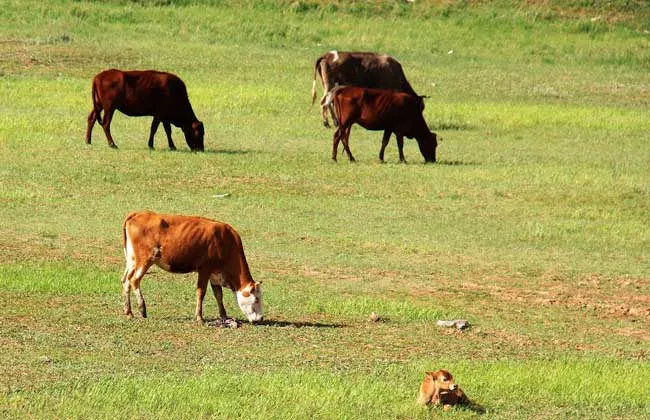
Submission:
M 93 79 L 92 100 L 86 144 L 91 142 L 93 126 L 97 121 L 104 129 L 108 145 L 117 148 L 111 136 L 111 120 L 115 110 L 118 110 L 131 117 L 153 116 L 150 149 L 153 149 L 153 136 L 162 122 L 171 150 L 176 150 L 172 141 L 171 124 L 174 124 L 183 130 L 190 149 L 203 151 L 203 123 L 196 118 L 185 83 L 178 76 L 154 70 L 105 70 Z M 103 118 L 100 115 L 102 110 Z

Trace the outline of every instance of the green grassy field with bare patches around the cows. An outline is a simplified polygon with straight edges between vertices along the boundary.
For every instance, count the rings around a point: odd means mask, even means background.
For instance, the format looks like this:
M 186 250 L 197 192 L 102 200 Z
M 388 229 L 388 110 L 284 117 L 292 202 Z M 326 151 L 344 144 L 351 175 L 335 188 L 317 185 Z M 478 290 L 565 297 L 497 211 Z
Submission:
M 480 415 L 416 405 L 446 368 L 486 418 L 650 418 L 648 22 L 634 1 L 5 1 L 0 416 Z M 331 49 L 400 60 L 438 163 L 393 140 L 380 164 L 359 127 L 357 163 L 331 162 L 310 106 Z M 178 129 L 149 151 L 122 114 L 118 150 L 85 145 L 110 67 L 181 76 L 206 152 Z M 159 269 L 126 319 L 139 209 L 232 224 L 265 322 L 198 325 L 195 276 Z

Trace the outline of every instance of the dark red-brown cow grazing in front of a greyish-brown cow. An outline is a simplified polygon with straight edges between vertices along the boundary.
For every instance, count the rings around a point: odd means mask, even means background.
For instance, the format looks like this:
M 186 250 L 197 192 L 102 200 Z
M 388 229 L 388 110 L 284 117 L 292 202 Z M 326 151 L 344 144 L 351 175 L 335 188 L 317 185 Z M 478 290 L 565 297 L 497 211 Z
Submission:
M 436 161 L 438 140 L 436 134 L 429 131 L 422 116 L 422 98 L 387 89 L 338 86 L 328 94 L 327 106 L 330 101 L 339 120 L 339 127 L 333 138 L 333 160 L 336 160 L 339 141 L 342 140 L 348 158 L 354 162 L 348 140 L 352 125 L 357 123 L 367 130 L 384 131 L 379 151 L 379 160 L 382 162 L 391 133 L 397 136 L 400 162 L 406 162 L 403 151 L 404 136 L 417 140 L 420 153 L 426 162 Z

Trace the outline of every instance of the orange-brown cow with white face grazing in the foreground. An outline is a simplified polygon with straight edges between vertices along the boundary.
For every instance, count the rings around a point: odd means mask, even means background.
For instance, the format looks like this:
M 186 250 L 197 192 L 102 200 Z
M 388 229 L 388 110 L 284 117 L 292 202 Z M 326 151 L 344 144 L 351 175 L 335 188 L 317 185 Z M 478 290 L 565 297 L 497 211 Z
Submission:
M 124 219 L 123 242 L 126 257 L 122 276 L 125 315 L 133 316 L 133 288 L 140 313 L 147 317 L 140 280 L 155 264 L 170 273 L 198 272 L 197 321 L 203 321 L 203 298 L 208 282 L 222 319 L 227 317 L 223 306 L 223 286 L 233 291 L 250 322 L 262 320 L 262 287 L 260 282 L 253 280 L 241 238 L 231 226 L 203 217 L 134 212 Z

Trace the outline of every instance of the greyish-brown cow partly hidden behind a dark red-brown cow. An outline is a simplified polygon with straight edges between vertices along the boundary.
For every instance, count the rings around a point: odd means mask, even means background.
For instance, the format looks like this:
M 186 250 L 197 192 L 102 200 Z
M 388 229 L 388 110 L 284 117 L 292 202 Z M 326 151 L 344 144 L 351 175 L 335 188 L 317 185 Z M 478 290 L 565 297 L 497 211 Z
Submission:
M 311 103 L 316 101 L 316 73 L 323 85 L 320 101 L 323 125 L 329 127 L 327 120 L 326 95 L 337 84 L 377 89 L 393 89 L 417 96 L 413 90 L 402 65 L 386 54 L 370 52 L 330 51 L 318 57 L 314 64 L 314 80 L 311 88 Z M 424 103 L 423 103 L 424 106 Z M 336 116 L 330 108 L 332 120 L 337 126 Z

